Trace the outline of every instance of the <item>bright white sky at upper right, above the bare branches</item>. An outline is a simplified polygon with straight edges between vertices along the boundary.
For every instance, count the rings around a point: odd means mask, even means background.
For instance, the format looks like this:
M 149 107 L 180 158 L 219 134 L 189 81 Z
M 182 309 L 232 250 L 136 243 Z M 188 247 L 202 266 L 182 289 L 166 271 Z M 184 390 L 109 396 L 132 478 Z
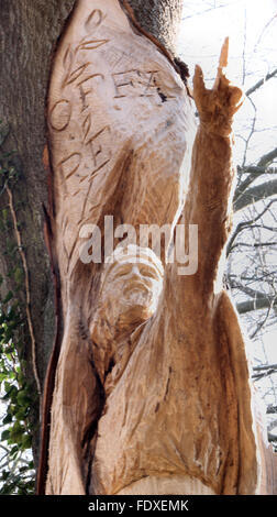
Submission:
M 222 7 L 212 10 L 214 4 Z M 196 14 L 200 12 L 202 13 Z M 217 74 L 221 44 L 225 36 L 230 36 L 228 75 L 239 86 L 244 82 L 245 90 L 277 67 L 277 0 L 193 2 L 186 0 L 182 18 L 179 52 L 189 65 L 190 79 L 193 76 L 195 65 L 199 64 L 203 69 L 207 86 L 211 87 L 211 79 Z M 258 108 L 257 129 L 259 130 L 277 124 L 276 80 L 272 79 L 252 96 Z M 242 128 L 245 130 L 252 116 L 253 107 L 246 100 L 237 113 L 235 133 L 241 134 Z M 259 133 L 257 133 L 252 141 L 248 163 L 255 162 L 261 153 L 264 154 L 274 148 L 276 140 L 276 132 L 267 132 L 266 139 L 263 139 L 262 150 L 258 145 Z M 239 162 L 243 151 L 243 142 L 239 139 L 236 142 Z

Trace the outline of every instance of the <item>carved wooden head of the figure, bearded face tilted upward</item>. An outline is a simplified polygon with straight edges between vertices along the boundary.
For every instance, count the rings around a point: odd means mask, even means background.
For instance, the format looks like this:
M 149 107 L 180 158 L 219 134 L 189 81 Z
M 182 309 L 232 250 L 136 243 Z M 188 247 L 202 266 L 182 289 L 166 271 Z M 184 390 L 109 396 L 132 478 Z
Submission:
M 163 274 L 159 258 L 149 249 L 131 244 L 118 246 L 109 257 L 101 278 L 98 310 L 90 328 L 95 365 L 103 383 L 113 360 L 118 364 L 118 370 L 115 366 L 112 370 L 114 384 L 130 355 L 125 338 L 156 311 Z

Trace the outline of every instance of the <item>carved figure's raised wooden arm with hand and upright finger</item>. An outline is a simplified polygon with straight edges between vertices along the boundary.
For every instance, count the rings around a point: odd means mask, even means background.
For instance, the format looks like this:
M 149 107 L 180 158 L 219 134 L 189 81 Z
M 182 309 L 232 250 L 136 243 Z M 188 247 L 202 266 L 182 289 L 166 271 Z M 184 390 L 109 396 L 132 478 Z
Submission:
M 228 48 L 226 38 L 212 89 L 204 87 L 199 66 L 196 66 L 193 78 L 200 123 L 193 144 L 184 218 L 186 226 L 198 226 L 198 270 L 191 277 L 185 277 L 185 282 L 196 283 L 201 297 L 214 292 L 215 279 L 220 282 L 219 264 L 231 229 L 235 179 L 232 122 L 242 105 L 242 91 L 224 75 Z

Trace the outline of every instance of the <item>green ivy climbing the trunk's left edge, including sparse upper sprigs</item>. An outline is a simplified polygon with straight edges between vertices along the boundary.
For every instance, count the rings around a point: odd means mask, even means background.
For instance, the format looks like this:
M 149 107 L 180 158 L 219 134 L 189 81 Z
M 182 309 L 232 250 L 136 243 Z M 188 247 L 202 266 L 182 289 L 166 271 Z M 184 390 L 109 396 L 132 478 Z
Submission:
M 18 180 L 14 155 L 1 150 L 9 134 L 9 127 L 0 121 L 0 195 L 7 186 L 10 188 Z M 12 278 L 15 292 L 23 288 L 24 274 L 16 264 L 18 246 L 11 234 L 9 207 L 0 210 L 0 231 L 4 231 L 5 253 L 13 258 L 13 266 L 8 276 Z M 0 285 L 3 278 L 0 275 Z M 34 404 L 33 387 L 26 382 L 22 343 L 19 342 L 20 329 L 23 326 L 19 304 L 14 293 L 7 293 L 0 300 L 0 392 L 1 406 L 5 414 L 1 421 L 0 444 L 0 495 L 27 495 L 34 493 L 34 465 L 31 446 L 33 429 L 31 426 L 31 407 Z

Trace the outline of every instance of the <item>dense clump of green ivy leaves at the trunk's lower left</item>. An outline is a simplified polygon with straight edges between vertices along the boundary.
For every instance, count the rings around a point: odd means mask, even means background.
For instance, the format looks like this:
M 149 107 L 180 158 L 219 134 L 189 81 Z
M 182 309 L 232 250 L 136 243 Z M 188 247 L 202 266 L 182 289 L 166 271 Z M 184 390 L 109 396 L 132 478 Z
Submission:
M 19 362 L 20 343 L 15 332 L 23 321 L 16 302 L 9 293 L 0 305 L 0 386 L 5 415 L 2 419 L 1 443 L 5 447 L 0 460 L 0 494 L 33 494 L 34 470 L 30 459 L 32 428 L 30 408 L 34 400 L 32 386 L 26 382 Z M 24 362 L 23 362 L 24 365 Z M 9 469 L 7 469 L 9 468 Z

